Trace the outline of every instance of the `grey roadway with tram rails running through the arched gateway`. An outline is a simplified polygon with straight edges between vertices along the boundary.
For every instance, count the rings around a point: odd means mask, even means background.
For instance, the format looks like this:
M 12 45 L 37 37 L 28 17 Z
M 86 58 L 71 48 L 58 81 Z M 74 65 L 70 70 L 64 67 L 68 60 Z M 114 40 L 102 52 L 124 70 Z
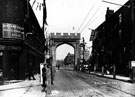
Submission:
M 60 70 L 56 83 L 59 88 L 58 96 L 53 97 L 134 97 L 135 85 L 118 80 L 97 77 L 91 74 Z M 53 90 L 52 90 L 53 92 Z M 50 97 L 50 96 L 49 96 Z M 52 96 L 51 96 L 52 97 Z

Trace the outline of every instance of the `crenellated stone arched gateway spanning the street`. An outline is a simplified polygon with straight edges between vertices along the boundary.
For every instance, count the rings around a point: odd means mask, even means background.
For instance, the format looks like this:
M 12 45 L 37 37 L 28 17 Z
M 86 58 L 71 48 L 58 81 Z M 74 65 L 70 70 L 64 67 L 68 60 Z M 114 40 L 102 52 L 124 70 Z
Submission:
M 50 56 L 53 57 L 52 66 L 56 66 L 56 48 L 62 44 L 69 44 L 74 48 L 75 63 L 80 60 L 80 33 L 50 33 Z

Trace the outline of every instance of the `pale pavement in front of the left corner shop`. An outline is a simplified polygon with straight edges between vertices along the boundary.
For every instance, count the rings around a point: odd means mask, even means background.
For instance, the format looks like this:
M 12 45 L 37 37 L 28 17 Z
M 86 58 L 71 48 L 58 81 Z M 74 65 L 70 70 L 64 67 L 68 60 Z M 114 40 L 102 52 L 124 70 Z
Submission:
M 45 92 L 41 92 L 39 75 L 35 78 L 36 80 L 22 80 L 0 85 L 0 97 L 45 97 Z

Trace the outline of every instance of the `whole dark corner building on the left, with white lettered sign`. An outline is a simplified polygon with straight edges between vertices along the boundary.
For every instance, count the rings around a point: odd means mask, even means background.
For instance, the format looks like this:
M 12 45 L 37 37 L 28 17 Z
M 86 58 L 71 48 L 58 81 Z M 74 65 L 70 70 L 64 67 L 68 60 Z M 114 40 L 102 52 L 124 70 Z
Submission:
M 0 69 L 4 79 L 25 79 L 29 64 L 44 62 L 45 37 L 28 0 L 0 1 Z

